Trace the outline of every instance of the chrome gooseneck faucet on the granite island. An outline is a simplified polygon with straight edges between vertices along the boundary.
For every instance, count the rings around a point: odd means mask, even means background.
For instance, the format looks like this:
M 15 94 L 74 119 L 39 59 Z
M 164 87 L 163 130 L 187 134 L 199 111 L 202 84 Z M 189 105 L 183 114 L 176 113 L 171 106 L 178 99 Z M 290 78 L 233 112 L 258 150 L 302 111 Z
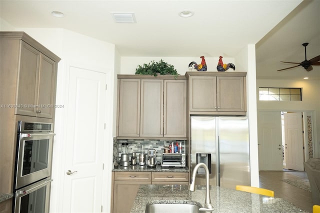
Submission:
M 209 169 L 208 167 L 203 163 L 200 162 L 198 164 L 196 164 L 193 168 L 193 172 L 192 172 L 192 178 L 191 178 L 191 182 L 189 185 L 189 190 L 190 191 L 195 191 L 195 174 L 196 171 L 198 170 L 199 167 L 203 167 L 205 170 L 205 201 L 204 201 L 204 208 L 199 208 L 199 211 L 213 211 L 213 205 L 211 204 L 211 200 L 210 200 L 210 191 L 209 191 Z

